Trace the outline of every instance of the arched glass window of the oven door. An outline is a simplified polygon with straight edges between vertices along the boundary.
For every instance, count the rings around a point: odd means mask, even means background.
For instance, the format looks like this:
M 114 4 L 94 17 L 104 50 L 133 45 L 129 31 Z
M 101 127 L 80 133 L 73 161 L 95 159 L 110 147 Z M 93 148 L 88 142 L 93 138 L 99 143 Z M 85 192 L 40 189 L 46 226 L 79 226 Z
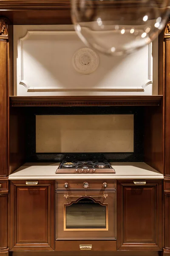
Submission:
M 108 230 L 108 205 L 82 198 L 65 206 L 65 230 Z

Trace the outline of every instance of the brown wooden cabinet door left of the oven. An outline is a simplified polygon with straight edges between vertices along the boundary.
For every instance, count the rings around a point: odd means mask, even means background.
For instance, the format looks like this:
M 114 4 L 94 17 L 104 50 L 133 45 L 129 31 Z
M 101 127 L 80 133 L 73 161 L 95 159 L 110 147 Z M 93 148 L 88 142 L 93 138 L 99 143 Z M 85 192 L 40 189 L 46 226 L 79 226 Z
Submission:
M 10 250 L 54 250 L 54 181 L 10 184 Z

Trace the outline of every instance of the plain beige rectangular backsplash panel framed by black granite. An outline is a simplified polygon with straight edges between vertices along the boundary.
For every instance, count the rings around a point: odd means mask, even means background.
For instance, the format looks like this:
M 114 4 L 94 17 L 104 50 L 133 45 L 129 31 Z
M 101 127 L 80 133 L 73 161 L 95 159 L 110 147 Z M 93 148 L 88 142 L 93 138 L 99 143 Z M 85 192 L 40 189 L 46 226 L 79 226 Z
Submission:
M 133 115 L 37 115 L 36 153 L 133 152 Z

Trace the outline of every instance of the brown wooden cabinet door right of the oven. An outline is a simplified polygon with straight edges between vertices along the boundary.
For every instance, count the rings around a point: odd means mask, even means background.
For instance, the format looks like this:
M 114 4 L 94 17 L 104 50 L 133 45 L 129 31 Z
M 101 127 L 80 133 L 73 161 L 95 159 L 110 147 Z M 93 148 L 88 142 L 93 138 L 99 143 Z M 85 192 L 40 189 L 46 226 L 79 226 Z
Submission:
M 162 249 L 161 180 L 118 181 L 118 250 Z

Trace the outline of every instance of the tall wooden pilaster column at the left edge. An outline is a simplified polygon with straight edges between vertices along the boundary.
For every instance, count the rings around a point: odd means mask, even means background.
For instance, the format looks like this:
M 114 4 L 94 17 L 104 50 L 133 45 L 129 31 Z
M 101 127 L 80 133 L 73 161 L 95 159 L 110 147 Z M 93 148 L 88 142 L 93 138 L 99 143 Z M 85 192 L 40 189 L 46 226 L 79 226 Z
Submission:
M 8 255 L 8 20 L 0 17 L 0 255 Z

